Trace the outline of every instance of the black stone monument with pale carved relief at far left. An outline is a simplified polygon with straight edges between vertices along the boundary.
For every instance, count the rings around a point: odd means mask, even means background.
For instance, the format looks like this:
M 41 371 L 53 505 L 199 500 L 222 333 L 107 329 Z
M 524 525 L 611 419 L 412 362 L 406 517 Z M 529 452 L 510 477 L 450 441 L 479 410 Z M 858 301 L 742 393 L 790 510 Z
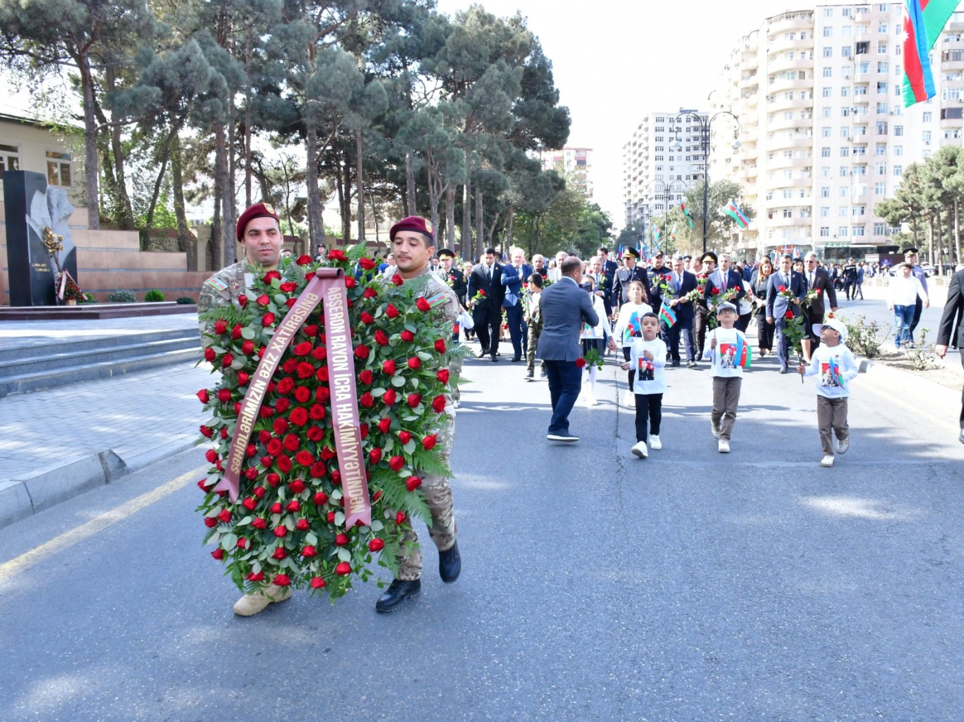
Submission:
M 63 236 L 61 267 L 77 280 L 77 250 L 67 219 L 73 206 L 67 192 L 49 188 L 42 174 L 5 171 L 3 197 L 7 216 L 7 275 L 10 305 L 55 306 L 57 266 L 43 245 L 43 228 Z

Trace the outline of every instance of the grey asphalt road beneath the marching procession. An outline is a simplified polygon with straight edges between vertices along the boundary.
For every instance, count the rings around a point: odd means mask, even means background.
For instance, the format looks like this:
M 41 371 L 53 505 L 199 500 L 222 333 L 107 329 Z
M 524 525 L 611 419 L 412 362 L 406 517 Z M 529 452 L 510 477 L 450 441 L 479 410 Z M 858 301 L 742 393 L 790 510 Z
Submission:
M 428 549 L 390 615 L 374 584 L 231 614 L 200 451 L 13 524 L 0 719 L 961 719 L 956 418 L 862 377 L 850 450 L 820 468 L 811 381 L 775 369 L 747 374 L 729 455 L 708 371 L 672 370 L 664 448 L 637 460 L 622 372 L 566 446 L 545 383 L 470 361 L 463 575 L 443 585 Z

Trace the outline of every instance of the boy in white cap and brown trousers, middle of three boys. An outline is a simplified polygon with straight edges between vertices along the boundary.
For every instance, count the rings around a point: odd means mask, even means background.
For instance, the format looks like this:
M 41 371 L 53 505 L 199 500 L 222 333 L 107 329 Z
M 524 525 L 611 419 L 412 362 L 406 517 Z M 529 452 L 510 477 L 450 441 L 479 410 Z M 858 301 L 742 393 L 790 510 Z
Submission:
M 743 367 L 739 357 L 750 353 L 746 336 L 734 328 L 737 318 L 736 306 L 729 302 L 720 304 L 716 309 L 716 319 L 720 325 L 707 334 L 703 352 L 703 358 L 711 362 L 713 377 L 710 429 L 713 438 L 718 440 L 716 449 L 721 454 L 730 453 L 730 435 L 739 406 L 739 389 L 743 383 Z

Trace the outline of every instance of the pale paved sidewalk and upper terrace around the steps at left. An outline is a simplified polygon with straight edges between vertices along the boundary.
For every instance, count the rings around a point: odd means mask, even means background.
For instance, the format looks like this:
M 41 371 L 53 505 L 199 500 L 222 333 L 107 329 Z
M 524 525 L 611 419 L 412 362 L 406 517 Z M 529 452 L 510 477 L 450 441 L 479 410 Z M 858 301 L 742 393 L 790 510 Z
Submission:
M 0 323 L 0 345 L 69 342 L 197 322 L 196 314 L 10 321 Z M 0 398 L 0 527 L 193 446 L 203 420 L 195 394 L 214 381 L 209 364 L 179 363 Z

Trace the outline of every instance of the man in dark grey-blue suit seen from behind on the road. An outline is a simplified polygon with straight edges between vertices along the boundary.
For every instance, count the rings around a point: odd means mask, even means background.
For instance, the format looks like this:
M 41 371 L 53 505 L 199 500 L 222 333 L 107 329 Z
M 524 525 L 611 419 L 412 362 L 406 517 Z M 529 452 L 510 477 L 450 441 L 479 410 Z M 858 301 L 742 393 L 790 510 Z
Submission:
M 546 362 L 552 400 L 552 419 L 546 438 L 549 441 L 579 441 L 569 431 L 569 413 L 578 398 L 582 379 L 582 368 L 576 365 L 576 360 L 582 357 L 579 331 L 583 323 L 598 326 L 600 317 L 593 310 L 589 294 L 579 287 L 582 261 L 570 255 L 562 262 L 560 271 L 559 281 L 540 294 L 543 331 L 536 356 Z

